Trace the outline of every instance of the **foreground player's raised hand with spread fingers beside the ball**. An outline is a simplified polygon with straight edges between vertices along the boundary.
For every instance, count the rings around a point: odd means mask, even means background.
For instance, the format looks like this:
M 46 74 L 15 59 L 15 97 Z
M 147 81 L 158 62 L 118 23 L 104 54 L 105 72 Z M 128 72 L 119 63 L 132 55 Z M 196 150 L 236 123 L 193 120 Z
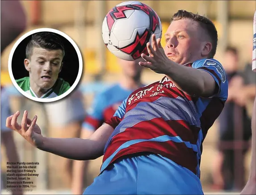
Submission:
M 170 59 L 165 55 L 160 41 L 160 38 L 156 39 L 155 34 L 152 34 L 151 43 L 147 43 L 147 51 L 149 56 L 146 54 L 141 54 L 141 57 L 146 62 L 139 62 L 138 64 L 140 66 L 147 67 L 156 73 L 166 74 L 170 68 L 168 65 L 170 63 Z

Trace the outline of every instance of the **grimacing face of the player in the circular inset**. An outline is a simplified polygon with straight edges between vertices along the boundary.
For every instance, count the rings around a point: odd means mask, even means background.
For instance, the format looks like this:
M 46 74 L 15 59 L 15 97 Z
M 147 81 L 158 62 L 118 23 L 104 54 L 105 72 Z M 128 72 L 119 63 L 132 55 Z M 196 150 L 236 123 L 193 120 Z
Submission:
M 62 50 L 46 50 L 34 47 L 30 59 L 25 59 L 29 71 L 30 85 L 36 84 L 40 89 L 50 89 L 58 79 L 63 60 Z

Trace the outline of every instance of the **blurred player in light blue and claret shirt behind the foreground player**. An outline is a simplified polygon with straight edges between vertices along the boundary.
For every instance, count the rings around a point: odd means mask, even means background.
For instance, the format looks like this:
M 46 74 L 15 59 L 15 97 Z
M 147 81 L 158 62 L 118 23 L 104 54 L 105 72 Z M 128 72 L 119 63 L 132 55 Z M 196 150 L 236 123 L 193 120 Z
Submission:
M 95 97 L 92 107 L 86 116 L 80 138 L 87 139 L 106 120 L 110 120 L 122 101 L 135 89 L 142 87 L 141 72 L 142 66 L 138 66 L 139 60 L 125 61 L 118 58 L 122 68 L 119 83 L 107 88 Z M 88 161 L 75 161 L 72 180 L 73 194 L 83 193 L 84 168 L 88 167 Z

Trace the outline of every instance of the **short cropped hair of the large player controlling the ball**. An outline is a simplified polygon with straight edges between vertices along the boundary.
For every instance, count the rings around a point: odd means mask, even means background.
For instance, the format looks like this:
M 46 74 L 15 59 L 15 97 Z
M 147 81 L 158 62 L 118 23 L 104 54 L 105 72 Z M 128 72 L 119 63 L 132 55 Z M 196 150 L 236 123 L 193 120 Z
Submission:
M 218 32 L 216 30 L 214 23 L 205 16 L 201 16 L 199 14 L 195 14 L 192 12 L 187 12 L 186 10 L 179 10 L 178 12 L 176 12 L 172 16 L 171 23 L 172 21 L 178 21 L 183 19 L 197 21 L 200 24 L 201 28 L 206 30 L 210 37 L 210 42 L 212 44 L 212 50 L 210 51 L 208 58 L 214 58 L 218 44 Z

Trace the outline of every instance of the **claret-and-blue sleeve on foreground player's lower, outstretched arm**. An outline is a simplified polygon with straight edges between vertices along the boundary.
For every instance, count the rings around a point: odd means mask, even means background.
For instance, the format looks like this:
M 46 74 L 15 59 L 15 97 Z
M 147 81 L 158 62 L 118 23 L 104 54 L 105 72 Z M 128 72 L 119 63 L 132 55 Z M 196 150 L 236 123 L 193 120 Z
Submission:
M 118 126 L 118 124 L 122 121 L 122 118 L 125 116 L 127 100 L 128 98 L 123 100 L 122 104 L 118 107 L 112 118 L 105 121 L 105 123 L 109 124 L 111 127 L 113 127 L 113 129 Z

